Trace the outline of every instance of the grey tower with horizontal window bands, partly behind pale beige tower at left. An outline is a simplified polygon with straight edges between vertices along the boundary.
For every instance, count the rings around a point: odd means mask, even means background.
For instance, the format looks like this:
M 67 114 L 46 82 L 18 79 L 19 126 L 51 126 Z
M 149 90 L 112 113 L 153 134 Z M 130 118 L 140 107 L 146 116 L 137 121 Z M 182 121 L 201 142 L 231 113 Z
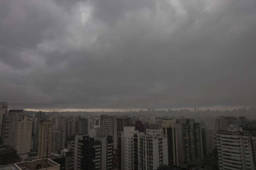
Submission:
M 9 110 L 5 116 L 3 127 L 3 143 L 16 147 L 17 123 L 23 119 L 24 110 Z

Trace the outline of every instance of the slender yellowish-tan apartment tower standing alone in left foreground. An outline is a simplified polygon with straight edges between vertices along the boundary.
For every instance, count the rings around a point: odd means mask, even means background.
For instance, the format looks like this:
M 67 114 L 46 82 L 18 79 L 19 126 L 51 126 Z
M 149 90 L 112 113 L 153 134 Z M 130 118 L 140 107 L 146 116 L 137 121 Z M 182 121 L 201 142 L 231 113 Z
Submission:
M 39 121 L 38 159 L 51 156 L 53 124 L 49 120 Z

